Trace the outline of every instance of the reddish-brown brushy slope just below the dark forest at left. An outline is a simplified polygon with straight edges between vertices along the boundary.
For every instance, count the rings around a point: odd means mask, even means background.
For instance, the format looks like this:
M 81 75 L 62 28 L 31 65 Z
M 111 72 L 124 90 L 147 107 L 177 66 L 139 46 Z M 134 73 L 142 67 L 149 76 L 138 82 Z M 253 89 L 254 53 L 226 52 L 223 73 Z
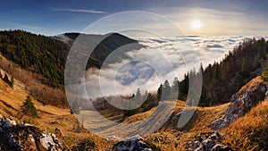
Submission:
M 21 87 L 27 88 L 30 94 L 36 96 L 40 101 L 65 108 L 68 106 L 63 86 L 61 86 L 62 88 L 49 87 L 46 78 L 42 75 L 21 69 L 18 64 L 7 60 L 3 55 L 0 55 L 0 68 L 7 71 L 14 79 L 20 80 L 23 83 Z

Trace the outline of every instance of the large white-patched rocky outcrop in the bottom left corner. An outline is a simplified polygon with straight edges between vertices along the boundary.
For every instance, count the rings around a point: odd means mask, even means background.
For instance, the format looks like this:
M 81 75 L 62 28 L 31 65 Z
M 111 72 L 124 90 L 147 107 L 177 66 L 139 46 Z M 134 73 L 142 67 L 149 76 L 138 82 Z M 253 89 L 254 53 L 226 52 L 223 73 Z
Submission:
M 54 133 L 42 132 L 29 124 L 17 125 L 0 115 L 0 150 L 60 151 L 63 146 Z

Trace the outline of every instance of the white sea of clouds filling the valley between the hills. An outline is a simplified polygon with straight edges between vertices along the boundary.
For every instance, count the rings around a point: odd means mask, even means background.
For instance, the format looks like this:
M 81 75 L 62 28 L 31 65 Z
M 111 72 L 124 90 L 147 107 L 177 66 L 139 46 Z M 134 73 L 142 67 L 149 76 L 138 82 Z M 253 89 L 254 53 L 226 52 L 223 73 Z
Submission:
M 187 71 L 198 70 L 200 63 L 205 67 L 220 62 L 234 46 L 247 38 L 250 37 L 138 38 L 138 43 L 144 47 L 126 51 L 131 59 L 122 59 L 101 70 L 87 71 L 87 94 L 83 96 L 131 95 L 137 88 L 142 93 L 146 90 L 155 92 L 164 80 L 171 84 L 175 77 L 181 80 Z

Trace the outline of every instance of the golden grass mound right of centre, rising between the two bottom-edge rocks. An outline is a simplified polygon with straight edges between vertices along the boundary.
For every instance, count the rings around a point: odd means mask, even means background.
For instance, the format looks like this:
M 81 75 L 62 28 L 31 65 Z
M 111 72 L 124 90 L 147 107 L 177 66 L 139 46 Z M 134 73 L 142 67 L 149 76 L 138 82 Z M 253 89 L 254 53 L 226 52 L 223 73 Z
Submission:
M 208 126 L 225 113 L 228 105 L 230 104 L 214 107 L 197 107 L 197 113 L 185 126 L 183 132 L 176 128 L 176 122 L 178 121 L 172 121 L 165 124 L 166 128 L 157 131 L 152 136 L 148 136 L 146 140 L 160 150 L 184 150 L 186 142 L 196 138 L 198 134 L 213 131 Z M 193 107 L 185 106 L 184 102 L 177 101 L 174 113 L 190 108 Z

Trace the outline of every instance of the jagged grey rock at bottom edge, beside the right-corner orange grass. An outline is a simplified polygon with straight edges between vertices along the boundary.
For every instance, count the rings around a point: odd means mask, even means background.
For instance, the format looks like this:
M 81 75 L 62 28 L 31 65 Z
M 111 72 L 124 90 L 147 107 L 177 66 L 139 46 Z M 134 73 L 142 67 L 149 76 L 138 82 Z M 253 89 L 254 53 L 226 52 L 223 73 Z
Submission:
M 202 133 L 197 139 L 185 146 L 187 151 L 232 151 L 231 147 L 222 145 L 222 135 L 217 131 Z

